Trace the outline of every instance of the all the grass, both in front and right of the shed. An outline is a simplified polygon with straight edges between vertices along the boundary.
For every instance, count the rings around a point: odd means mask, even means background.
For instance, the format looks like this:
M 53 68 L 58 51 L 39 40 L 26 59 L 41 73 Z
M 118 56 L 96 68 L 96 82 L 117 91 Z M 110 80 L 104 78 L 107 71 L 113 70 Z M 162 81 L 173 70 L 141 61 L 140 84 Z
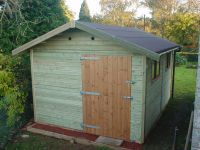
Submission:
M 193 108 L 196 70 L 185 67 L 176 68 L 175 97 L 171 99 L 156 127 L 152 130 L 144 144 L 144 150 L 171 150 L 174 128 L 178 127 L 176 150 L 183 150 L 187 134 L 190 113 Z M 107 150 L 105 147 L 84 146 L 71 144 L 42 135 L 29 134 L 29 138 L 21 138 L 20 133 L 7 150 Z

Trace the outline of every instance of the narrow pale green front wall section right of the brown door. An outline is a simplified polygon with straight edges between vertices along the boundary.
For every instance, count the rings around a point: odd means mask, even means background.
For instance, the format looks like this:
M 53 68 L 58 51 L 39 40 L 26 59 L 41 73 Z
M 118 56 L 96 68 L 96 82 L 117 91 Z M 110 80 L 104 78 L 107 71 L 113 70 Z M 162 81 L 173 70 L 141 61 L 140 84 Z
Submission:
M 131 87 L 131 140 L 137 139 L 144 142 L 144 118 L 145 118 L 145 91 L 146 91 L 146 57 L 135 55 L 132 59 Z

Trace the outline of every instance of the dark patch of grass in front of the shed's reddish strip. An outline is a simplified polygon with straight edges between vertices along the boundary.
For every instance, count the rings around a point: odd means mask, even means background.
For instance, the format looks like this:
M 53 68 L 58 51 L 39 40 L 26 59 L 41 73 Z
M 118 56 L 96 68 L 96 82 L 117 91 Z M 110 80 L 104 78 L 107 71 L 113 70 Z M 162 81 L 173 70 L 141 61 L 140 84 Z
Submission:
M 29 138 L 22 138 L 21 135 L 29 135 Z M 106 147 L 86 146 L 72 144 L 66 140 L 59 140 L 29 132 L 19 133 L 12 143 L 9 143 L 5 150 L 110 150 Z

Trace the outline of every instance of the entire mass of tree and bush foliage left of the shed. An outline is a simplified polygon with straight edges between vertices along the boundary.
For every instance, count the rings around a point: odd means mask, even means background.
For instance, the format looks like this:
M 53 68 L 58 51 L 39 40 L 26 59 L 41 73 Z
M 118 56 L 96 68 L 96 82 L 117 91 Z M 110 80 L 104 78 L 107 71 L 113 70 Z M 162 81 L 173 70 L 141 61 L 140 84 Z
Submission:
M 6 111 L 7 123 L 12 126 L 32 97 L 29 54 L 12 57 L 11 50 L 73 16 L 64 0 L 4 0 L 0 6 L 0 109 Z

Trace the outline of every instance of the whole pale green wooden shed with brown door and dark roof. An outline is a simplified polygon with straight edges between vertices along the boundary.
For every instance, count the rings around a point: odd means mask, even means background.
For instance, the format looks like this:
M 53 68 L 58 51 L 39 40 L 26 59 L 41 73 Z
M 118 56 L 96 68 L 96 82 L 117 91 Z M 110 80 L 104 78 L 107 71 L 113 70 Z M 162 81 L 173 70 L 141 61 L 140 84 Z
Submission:
M 171 95 L 180 47 L 136 28 L 72 21 L 30 52 L 34 121 L 143 143 Z

